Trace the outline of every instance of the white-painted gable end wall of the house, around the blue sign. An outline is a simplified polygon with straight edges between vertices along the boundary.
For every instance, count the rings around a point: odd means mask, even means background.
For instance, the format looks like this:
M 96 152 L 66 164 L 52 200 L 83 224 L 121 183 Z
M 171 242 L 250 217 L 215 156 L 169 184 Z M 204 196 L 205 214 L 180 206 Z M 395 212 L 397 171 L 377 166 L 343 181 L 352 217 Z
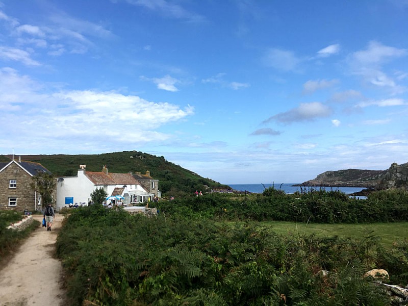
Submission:
M 85 176 L 84 170 L 78 170 L 77 176 L 63 177 L 63 181 L 57 183 L 57 211 L 65 205 L 65 197 L 73 197 L 73 204 L 86 202 L 90 194 L 96 189 L 93 183 Z

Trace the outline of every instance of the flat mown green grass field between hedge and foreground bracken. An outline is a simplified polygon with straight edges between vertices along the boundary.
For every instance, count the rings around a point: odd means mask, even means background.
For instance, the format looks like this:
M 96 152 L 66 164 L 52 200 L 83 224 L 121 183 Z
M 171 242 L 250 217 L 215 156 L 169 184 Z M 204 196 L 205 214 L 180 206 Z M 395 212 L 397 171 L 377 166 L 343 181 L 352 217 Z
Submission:
M 369 223 L 369 224 L 316 224 L 316 223 L 295 223 L 266 221 L 260 224 L 270 227 L 272 231 L 278 234 L 290 235 L 311 235 L 320 237 L 339 236 L 364 237 L 374 235 L 380 238 L 380 243 L 391 248 L 393 242 L 408 239 L 408 222 L 396 223 Z

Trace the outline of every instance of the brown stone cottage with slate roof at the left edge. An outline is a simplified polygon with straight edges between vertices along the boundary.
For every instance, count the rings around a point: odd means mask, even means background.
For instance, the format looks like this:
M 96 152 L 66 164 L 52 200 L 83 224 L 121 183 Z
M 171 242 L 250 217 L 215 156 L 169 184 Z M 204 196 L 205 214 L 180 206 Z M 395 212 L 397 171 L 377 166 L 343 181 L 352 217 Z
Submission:
M 41 164 L 20 159 L 0 163 L 0 210 L 41 210 L 41 197 L 30 186 L 39 172 L 50 173 Z

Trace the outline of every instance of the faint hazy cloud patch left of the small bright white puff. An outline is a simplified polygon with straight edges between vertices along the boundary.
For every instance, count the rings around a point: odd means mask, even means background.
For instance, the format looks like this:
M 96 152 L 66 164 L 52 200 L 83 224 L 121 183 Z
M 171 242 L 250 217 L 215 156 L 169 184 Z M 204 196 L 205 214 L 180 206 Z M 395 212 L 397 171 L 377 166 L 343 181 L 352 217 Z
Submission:
M 264 63 L 283 71 L 296 71 L 301 60 L 292 51 L 271 48 L 264 56 Z

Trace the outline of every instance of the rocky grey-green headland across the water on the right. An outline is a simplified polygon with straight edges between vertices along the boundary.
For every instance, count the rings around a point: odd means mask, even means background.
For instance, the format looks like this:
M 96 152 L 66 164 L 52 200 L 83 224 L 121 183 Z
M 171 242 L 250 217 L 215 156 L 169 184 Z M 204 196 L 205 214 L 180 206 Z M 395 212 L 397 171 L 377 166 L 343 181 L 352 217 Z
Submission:
M 314 180 L 297 186 L 365 187 L 374 189 L 408 189 L 408 163 L 391 164 L 388 170 L 347 169 L 326 171 Z

